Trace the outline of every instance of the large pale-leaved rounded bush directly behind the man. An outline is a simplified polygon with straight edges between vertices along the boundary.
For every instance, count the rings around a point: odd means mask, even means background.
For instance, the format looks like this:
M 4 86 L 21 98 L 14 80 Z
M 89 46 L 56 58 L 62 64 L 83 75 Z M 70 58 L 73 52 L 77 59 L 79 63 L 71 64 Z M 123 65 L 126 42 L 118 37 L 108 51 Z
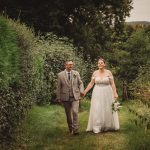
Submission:
M 73 60 L 75 70 L 81 77 L 87 74 L 85 64 L 80 55 L 75 53 L 75 47 L 67 38 L 58 38 L 52 33 L 40 37 L 40 45 L 44 51 L 42 87 L 37 97 L 38 103 L 47 103 L 55 100 L 57 74 L 64 70 L 66 60 Z

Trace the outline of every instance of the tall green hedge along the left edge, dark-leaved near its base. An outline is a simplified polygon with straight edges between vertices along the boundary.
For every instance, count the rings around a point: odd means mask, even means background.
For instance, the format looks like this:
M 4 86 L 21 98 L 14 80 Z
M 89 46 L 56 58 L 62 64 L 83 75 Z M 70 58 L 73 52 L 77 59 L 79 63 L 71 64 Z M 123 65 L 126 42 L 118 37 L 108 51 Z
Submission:
M 31 107 L 35 39 L 25 25 L 4 17 L 0 20 L 0 138 L 9 143 Z

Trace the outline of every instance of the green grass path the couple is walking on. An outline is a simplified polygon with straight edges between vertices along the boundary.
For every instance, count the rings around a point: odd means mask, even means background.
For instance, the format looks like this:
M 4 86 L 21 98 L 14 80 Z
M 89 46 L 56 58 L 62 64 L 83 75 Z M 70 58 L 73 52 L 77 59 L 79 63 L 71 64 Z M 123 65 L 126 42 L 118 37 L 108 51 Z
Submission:
M 83 101 L 79 113 L 78 136 L 67 134 L 63 107 L 57 105 L 33 106 L 23 123 L 27 150 L 148 150 L 150 134 L 129 121 L 133 116 L 126 104 L 119 112 L 120 130 L 99 134 L 86 133 L 89 105 Z

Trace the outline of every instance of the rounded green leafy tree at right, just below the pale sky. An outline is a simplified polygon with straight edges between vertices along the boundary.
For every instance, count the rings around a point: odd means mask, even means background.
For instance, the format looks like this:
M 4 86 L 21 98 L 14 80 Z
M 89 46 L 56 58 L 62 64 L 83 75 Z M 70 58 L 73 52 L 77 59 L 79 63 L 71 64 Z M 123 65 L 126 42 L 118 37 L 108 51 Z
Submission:
M 134 80 L 141 72 L 141 68 L 149 61 L 150 55 L 150 38 L 145 29 L 137 29 L 132 35 L 123 43 L 122 49 L 124 56 L 119 62 L 118 76 L 122 80 L 123 85 L 130 87 L 130 90 L 135 86 Z M 121 50 L 116 55 L 119 58 Z M 117 60 L 116 58 L 114 58 Z M 132 93 L 133 91 L 130 91 Z

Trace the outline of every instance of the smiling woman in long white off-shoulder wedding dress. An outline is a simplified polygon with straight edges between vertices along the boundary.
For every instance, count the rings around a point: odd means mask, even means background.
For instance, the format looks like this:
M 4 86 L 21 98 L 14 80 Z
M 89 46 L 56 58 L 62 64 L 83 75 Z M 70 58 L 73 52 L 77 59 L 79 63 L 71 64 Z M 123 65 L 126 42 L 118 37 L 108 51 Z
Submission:
M 112 110 L 112 103 L 118 94 L 111 71 L 107 70 L 105 60 L 98 60 L 98 70 L 94 71 L 84 95 L 94 86 L 91 98 L 89 121 L 86 131 L 99 133 L 119 129 L 118 113 Z

